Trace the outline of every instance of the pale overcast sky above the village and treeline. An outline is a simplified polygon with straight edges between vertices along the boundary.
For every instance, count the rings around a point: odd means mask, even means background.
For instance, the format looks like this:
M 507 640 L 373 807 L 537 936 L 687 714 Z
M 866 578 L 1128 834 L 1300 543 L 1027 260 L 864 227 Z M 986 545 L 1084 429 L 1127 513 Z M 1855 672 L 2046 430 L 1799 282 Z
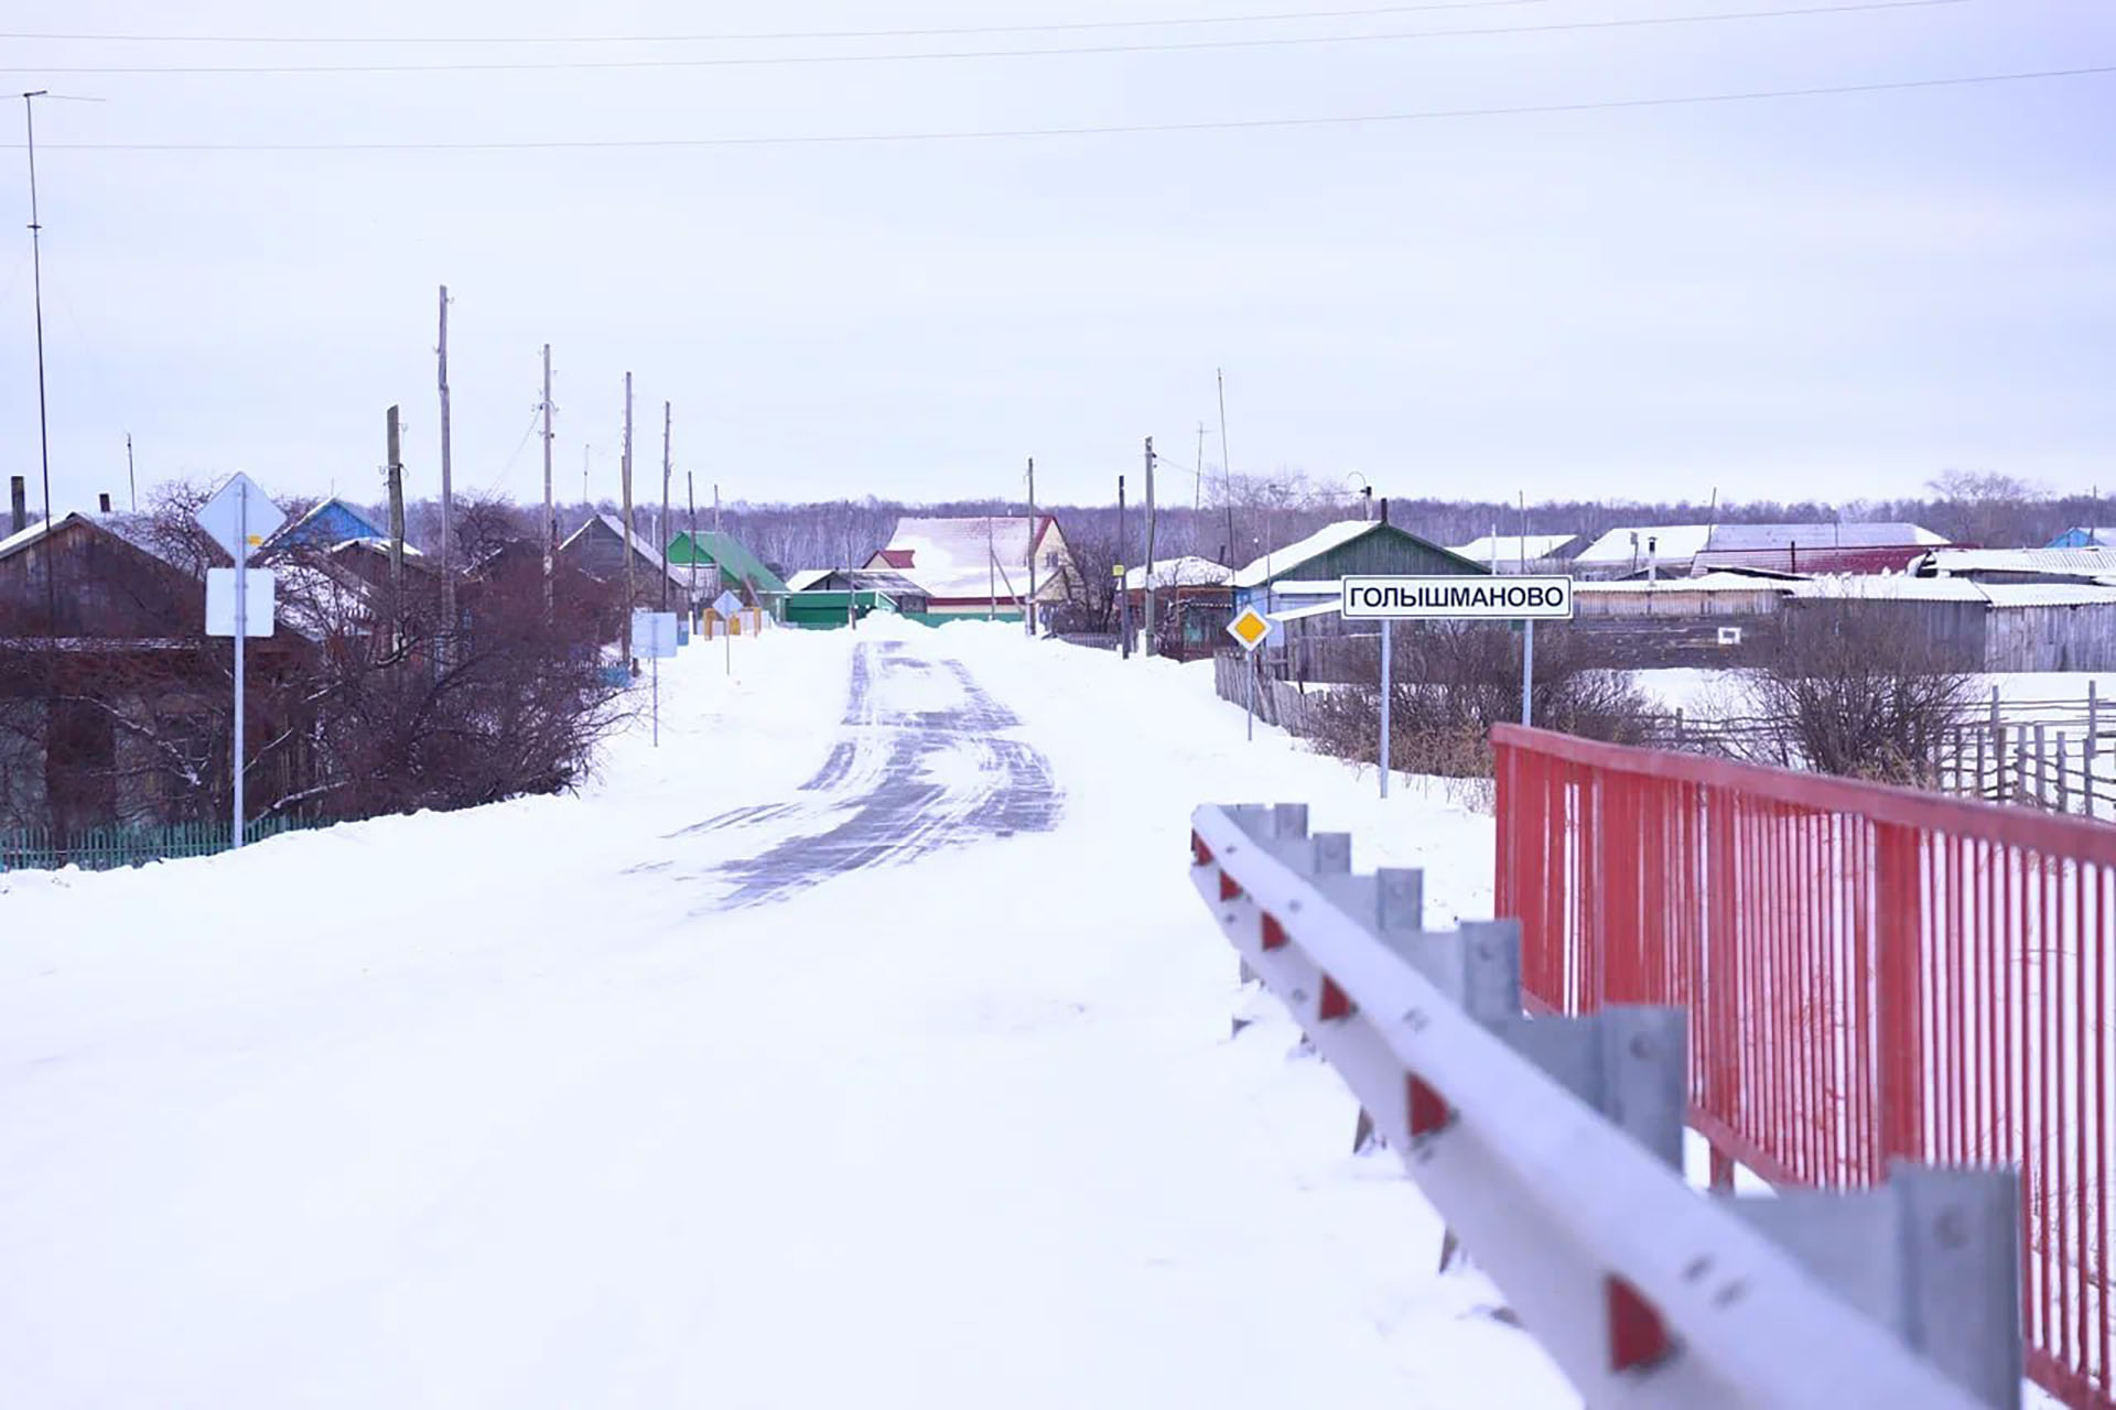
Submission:
M 1430 114 L 2116 66 L 2103 0 L 11 0 L 38 99 L 53 499 L 243 467 L 379 495 L 404 406 L 438 486 L 449 283 L 459 490 L 616 495 L 637 374 L 677 495 L 1113 497 L 1141 438 L 1382 495 L 1881 497 L 1949 467 L 2116 484 L 2116 74 L 1306 127 L 597 150 L 76 144 L 664 142 Z M 506 44 L 533 36 L 946 30 Z M 1314 17 L 1316 11 L 1369 13 Z M 1447 30 L 1515 30 L 1454 34 Z M 466 38 L 474 44 L 404 42 Z M 1344 42 L 1198 47 L 1363 36 Z M 1390 38 L 1384 38 L 1390 36 Z M 1416 38 L 1403 38 L 1416 36 Z M 121 74 L 161 66 L 624 63 Z M 0 110 L 4 112 L 4 110 Z M 0 184 L 0 435 L 36 484 L 21 101 Z M 650 469 L 652 467 L 652 469 Z M 1183 469 L 1164 495 L 1189 499 Z M 1174 490 L 1166 488 L 1174 484 Z

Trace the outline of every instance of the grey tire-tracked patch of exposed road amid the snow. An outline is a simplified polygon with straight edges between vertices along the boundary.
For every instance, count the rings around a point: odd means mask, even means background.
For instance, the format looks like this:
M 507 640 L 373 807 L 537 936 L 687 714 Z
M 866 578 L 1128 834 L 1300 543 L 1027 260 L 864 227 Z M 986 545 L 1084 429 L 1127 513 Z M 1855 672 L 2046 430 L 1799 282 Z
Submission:
M 842 729 L 800 797 L 736 808 L 675 833 L 796 829 L 709 873 L 734 884 L 722 907 L 766 905 L 834 875 L 1058 824 L 1064 799 L 1050 763 L 1007 738 L 1020 719 L 963 662 L 929 662 L 901 643 L 861 643 Z

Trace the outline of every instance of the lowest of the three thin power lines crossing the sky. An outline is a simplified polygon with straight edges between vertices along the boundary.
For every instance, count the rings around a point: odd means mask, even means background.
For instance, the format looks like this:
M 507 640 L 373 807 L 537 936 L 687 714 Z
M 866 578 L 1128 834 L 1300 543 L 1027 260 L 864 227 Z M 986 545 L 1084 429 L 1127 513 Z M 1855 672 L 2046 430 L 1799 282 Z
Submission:
M 1964 89 L 1985 82 L 2033 82 L 2042 78 L 2088 78 L 2116 74 L 2116 63 L 2048 68 L 2014 74 L 1962 74 L 1955 78 L 1902 78 L 1892 82 L 1845 82 L 1807 89 L 1750 89 L 1744 93 L 1684 93 L 1674 97 L 1617 97 L 1579 104 L 1515 104 L 1504 108 L 1426 108 L 1420 112 L 1367 112 L 1316 118 L 1234 118 L 1215 123 L 1130 123 L 1109 127 L 1020 127 L 995 131 L 937 133 L 827 133 L 779 137 L 609 137 L 552 142 L 47 142 L 63 152 L 571 152 L 624 148 L 743 148 L 743 146 L 851 146 L 880 142 L 1005 142 L 1026 137 L 1117 137 L 1134 133 L 1263 131 L 1293 127 L 1356 127 L 1365 123 L 1443 123 L 1454 118 L 1515 118 L 1568 112 L 1623 112 L 1634 108 L 1695 108 L 1705 104 L 1752 104 L 1784 97 L 1837 97 L 1849 93 L 1911 93 L 1919 89 Z M 8 144 L 19 150 L 19 144 Z

